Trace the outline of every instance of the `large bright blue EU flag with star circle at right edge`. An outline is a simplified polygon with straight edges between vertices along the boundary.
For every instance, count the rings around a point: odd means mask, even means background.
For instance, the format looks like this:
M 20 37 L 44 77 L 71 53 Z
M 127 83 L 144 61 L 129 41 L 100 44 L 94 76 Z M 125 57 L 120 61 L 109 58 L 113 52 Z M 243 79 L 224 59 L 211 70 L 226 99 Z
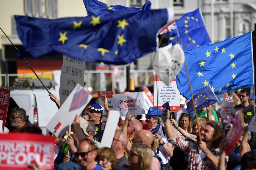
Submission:
M 184 51 L 192 92 L 210 84 L 215 95 L 254 85 L 252 33 Z M 177 77 L 181 95 L 191 100 L 185 65 Z

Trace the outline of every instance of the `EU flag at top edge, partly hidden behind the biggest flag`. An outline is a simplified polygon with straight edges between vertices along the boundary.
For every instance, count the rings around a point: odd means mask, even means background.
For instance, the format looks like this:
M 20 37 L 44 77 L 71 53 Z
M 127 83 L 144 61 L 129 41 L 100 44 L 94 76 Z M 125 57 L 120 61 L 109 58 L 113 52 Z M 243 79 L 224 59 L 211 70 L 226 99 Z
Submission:
M 97 0 L 84 0 L 88 16 L 107 15 L 116 11 L 147 11 L 151 9 L 151 1 L 146 2 L 143 7 L 126 7 L 122 5 L 108 5 Z

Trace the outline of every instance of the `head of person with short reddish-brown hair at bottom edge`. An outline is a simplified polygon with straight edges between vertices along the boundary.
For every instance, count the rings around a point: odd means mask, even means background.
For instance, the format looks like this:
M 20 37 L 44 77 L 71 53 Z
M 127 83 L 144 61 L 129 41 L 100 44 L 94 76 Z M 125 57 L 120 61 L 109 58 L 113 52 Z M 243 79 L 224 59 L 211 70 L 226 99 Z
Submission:
M 108 147 L 97 149 L 96 161 L 98 165 L 102 166 L 102 170 L 112 169 L 116 166 L 116 154 L 111 152 L 111 149 Z

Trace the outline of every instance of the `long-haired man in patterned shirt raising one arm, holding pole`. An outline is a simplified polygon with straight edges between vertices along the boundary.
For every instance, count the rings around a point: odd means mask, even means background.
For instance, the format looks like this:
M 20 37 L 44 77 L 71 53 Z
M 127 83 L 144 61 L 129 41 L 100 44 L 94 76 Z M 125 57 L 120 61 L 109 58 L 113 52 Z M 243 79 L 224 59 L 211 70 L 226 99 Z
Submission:
M 215 169 L 219 163 L 220 148 L 219 143 L 222 141 L 224 132 L 215 121 L 208 121 L 201 131 L 202 141 L 183 141 L 176 136 L 172 125 L 167 119 L 169 112 L 164 108 L 162 119 L 165 123 L 165 132 L 168 140 L 182 152 L 188 154 L 187 169 Z M 225 165 L 228 157 L 225 157 Z

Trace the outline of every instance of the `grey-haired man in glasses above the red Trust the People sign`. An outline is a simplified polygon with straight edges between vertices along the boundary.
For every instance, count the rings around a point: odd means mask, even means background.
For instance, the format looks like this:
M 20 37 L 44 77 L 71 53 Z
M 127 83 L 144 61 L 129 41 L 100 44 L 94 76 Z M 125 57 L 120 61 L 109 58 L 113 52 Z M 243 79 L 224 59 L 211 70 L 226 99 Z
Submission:
M 20 132 L 23 127 L 35 126 L 27 121 L 26 111 L 22 108 L 15 107 L 10 115 L 11 129 L 10 132 Z

